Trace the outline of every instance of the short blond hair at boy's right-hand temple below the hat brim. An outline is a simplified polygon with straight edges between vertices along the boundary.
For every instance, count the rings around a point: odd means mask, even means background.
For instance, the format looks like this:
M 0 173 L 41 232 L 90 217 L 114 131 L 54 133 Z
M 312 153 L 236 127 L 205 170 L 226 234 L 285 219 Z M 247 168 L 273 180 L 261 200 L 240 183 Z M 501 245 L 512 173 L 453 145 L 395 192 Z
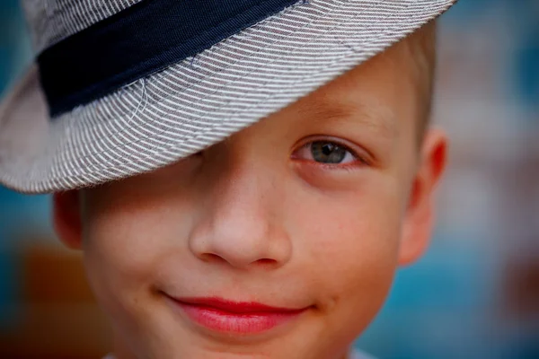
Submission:
M 418 106 L 420 118 L 418 118 L 418 134 L 420 141 L 429 127 L 432 112 L 432 98 L 434 92 L 434 78 L 436 71 L 436 39 L 437 21 L 431 21 L 413 32 L 408 38 L 399 42 L 396 47 L 401 47 L 407 52 L 414 66 L 413 81 L 418 89 Z

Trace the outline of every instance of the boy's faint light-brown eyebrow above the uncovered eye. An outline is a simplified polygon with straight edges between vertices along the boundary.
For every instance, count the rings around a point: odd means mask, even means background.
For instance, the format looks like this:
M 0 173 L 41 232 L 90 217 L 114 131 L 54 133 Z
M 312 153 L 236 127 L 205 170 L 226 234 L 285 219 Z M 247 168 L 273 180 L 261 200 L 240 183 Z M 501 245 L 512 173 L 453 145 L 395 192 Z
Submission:
M 323 123 L 349 122 L 369 127 L 377 134 L 387 137 L 396 136 L 396 117 L 392 109 L 383 105 L 368 106 L 360 101 L 332 101 L 322 99 L 314 106 L 301 110 L 309 120 Z

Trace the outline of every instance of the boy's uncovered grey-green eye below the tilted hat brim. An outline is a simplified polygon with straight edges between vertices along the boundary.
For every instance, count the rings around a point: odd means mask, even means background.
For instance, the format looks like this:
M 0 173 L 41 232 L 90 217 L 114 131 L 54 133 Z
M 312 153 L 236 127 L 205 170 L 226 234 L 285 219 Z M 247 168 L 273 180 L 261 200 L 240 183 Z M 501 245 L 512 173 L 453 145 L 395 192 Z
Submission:
M 304 144 L 293 157 L 323 164 L 347 164 L 358 161 L 358 155 L 348 147 L 331 141 L 313 141 Z

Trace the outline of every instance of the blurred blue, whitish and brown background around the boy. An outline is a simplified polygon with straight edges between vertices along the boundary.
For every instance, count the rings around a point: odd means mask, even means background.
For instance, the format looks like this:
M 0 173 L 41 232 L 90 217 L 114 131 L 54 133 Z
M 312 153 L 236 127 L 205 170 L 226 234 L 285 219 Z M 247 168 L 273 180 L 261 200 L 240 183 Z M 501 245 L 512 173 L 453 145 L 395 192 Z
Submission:
M 0 3 L 0 92 L 31 61 Z M 461 0 L 439 34 L 435 120 L 452 140 L 437 234 L 358 346 L 381 359 L 539 359 L 539 1 Z M 99 357 L 107 325 L 49 197 L 0 188 L 0 357 Z

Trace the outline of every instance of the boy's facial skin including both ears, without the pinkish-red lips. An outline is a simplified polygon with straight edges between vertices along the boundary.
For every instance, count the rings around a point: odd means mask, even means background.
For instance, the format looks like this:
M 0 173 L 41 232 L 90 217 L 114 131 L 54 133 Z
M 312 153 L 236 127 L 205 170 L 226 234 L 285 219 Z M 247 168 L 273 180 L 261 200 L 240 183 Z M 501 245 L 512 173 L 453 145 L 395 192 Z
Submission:
M 401 51 L 167 168 L 55 195 L 57 233 L 84 252 L 115 355 L 345 357 L 396 268 L 427 246 L 446 162 L 441 133 L 418 145 L 420 101 Z M 219 334 L 167 296 L 306 310 L 261 334 Z

